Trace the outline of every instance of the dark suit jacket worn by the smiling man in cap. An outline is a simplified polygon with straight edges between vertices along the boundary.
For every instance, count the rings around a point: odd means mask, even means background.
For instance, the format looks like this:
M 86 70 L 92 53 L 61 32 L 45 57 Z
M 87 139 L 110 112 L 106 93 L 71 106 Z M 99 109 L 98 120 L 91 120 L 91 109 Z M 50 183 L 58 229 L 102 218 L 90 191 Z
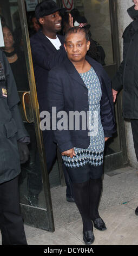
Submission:
M 57 36 L 62 44 L 58 51 L 42 31 L 38 31 L 30 38 L 37 97 L 41 111 L 47 109 L 45 92 L 47 88 L 48 72 L 50 69 L 54 68 L 54 66 L 61 64 L 66 54 L 63 46 L 64 36 Z

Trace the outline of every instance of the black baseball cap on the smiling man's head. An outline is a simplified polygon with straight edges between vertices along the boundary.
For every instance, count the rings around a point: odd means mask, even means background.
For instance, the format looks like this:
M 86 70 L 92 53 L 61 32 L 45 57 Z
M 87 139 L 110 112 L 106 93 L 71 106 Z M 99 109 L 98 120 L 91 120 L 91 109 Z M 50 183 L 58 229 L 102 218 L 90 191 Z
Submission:
M 50 15 L 52 13 L 56 13 L 56 11 L 60 11 L 61 9 L 57 6 L 57 4 L 52 0 L 45 0 L 36 5 L 35 8 L 35 16 L 36 19 Z

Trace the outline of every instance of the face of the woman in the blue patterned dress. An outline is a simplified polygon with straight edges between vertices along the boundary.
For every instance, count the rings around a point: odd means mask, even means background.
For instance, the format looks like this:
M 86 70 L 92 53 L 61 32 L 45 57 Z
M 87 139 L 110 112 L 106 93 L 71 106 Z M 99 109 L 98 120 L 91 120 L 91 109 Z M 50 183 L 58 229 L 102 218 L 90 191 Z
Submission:
M 67 51 L 71 62 L 81 62 L 84 60 L 89 46 L 90 41 L 86 40 L 86 35 L 83 32 L 69 34 L 64 44 L 65 51 Z

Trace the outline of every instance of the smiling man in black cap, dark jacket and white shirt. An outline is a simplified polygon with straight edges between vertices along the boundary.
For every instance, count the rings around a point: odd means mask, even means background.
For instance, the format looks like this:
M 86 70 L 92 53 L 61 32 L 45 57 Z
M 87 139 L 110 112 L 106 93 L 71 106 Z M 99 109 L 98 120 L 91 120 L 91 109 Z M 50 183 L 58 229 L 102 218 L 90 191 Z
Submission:
M 48 72 L 54 66 L 60 64 L 66 57 L 63 46 L 64 37 L 56 34 L 61 31 L 62 18 L 59 11 L 60 8 L 51 0 L 45 0 L 37 4 L 35 9 L 36 19 L 41 24 L 42 29 L 30 38 L 30 44 L 40 113 L 48 109 L 47 101 L 45 100 Z M 47 159 L 47 169 L 48 173 L 50 173 L 56 159 L 57 150 L 53 132 L 47 130 L 43 131 L 43 141 Z M 67 200 L 74 202 L 71 181 L 65 170 L 64 175 L 67 184 Z

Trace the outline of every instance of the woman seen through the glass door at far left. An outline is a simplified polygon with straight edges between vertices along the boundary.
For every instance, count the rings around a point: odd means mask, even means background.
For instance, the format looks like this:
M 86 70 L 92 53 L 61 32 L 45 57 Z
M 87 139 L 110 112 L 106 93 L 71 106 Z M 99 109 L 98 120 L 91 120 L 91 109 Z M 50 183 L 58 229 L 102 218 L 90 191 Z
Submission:
M 29 90 L 24 53 L 19 50 L 19 48 L 15 48 L 14 37 L 8 26 L 3 25 L 2 30 L 5 44 L 4 53 L 8 59 L 8 62 L 10 63 L 17 89 L 21 91 Z

